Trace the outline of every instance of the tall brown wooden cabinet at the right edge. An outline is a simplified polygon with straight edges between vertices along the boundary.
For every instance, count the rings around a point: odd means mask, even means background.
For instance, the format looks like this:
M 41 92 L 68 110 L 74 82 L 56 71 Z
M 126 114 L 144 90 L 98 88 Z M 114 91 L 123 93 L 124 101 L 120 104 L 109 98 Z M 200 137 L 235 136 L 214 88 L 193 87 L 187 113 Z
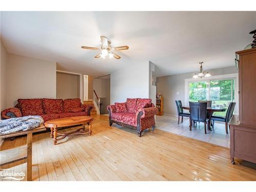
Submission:
M 256 49 L 239 55 L 239 116 L 230 125 L 230 156 L 256 163 Z

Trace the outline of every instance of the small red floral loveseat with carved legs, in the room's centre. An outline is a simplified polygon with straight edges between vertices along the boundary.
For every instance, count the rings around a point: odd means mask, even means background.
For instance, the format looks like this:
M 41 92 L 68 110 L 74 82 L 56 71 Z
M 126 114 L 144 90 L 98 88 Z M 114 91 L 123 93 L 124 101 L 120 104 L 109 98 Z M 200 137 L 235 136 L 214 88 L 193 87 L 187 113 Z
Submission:
M 108 106 L 110 126 L 117 123 L 121 126 L 132 127 L 137 130 L 139 137 L 145 129 L 152 127 L 155 130 L 155 115 L 158 109 L 151 99 L 130 99 L 124 103 L 115 103 Z

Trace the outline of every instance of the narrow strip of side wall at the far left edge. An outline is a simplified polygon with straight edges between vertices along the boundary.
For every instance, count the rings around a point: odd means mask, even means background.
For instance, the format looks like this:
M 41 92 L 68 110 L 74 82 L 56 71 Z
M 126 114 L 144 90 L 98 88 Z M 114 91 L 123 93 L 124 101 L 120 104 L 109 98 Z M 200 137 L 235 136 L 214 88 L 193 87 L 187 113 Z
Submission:
M 0 63 L 0 111 L 6 109 L 6 68 L 8 53 L 1 41 L 1 63 Z

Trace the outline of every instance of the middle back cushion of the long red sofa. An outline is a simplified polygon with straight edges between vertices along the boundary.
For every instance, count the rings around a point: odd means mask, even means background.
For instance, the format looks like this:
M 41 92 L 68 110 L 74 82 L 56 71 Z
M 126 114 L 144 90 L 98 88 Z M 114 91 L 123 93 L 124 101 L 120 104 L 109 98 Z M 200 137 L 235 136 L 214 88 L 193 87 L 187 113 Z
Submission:
M 42 99 L 42 106 L 44 106 L 45 114 L 64 112 L 62 99 Z

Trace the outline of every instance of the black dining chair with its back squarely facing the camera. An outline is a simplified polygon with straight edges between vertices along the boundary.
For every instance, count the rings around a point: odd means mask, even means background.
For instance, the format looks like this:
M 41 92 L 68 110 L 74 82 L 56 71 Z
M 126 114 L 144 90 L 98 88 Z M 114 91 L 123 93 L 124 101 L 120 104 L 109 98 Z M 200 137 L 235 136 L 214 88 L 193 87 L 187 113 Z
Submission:
M 190 112 L 189 131 L 192 130 L 192 121 L 204 122 L 204 133 L 206 134 L 206 127 L 208 126 L 209 128 L 210 126 L 209 119 L 206 116 L 207 103 L 189 101 L 189 112 Z

